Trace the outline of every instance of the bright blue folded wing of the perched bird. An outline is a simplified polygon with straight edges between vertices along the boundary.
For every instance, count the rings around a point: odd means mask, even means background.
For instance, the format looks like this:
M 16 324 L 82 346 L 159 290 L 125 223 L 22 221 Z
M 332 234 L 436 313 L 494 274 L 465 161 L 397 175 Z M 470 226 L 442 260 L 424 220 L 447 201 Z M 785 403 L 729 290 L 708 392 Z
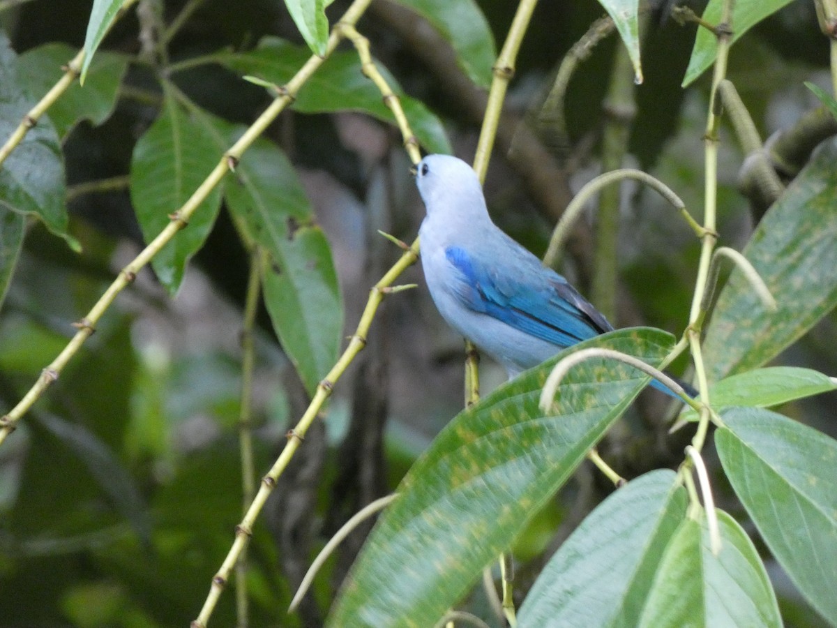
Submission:
M 568 347 L 613 329 L 573 286 L 515 245 L 488 255 L 449 247 L 449 286 L 462 303 L 531 336 Z M 508 256 L 511 259 L 501 259 Z

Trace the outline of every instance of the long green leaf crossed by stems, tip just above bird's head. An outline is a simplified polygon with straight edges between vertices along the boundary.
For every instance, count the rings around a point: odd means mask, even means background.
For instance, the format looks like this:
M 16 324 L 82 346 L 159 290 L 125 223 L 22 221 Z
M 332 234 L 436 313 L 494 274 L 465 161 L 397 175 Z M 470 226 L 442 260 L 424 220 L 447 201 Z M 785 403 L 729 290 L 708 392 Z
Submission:
M 284 85 L 311 55 L 306 49 L 283 39 L 266 37 L 258 48 L 244 53 L 222 52 L 218 63 L 245 75 L 256 75 L 275 85 Z M 403 95 L 398 83 L 380 67 L 393 92 L 401 97 L 401 106 L 413 133 L 429 152 L 450 153 L 452 149 L 439 118 L 419 100 Z M 354 52 L 331 54 L 303 85 L 296 96 L 294 109 L 303 113 L 362 111 L 378 120 L 393 123 L 393 112 L 383 104 L 381 92 L 362 74 L 360 60 Z

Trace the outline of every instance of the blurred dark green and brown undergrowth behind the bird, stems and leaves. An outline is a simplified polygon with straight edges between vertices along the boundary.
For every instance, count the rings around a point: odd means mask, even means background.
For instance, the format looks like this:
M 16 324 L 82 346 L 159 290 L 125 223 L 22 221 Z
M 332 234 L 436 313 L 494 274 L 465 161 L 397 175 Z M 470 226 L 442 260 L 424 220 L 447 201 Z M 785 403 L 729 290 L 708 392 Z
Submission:
M 249 49 L 265 35 L 302 43 L 280 2 L 150 4 L 165 23 L 186 4 L 196 9 L 167 47 L 172 62 L 218 49 Z M 477 4 L 499 48 L 515 5 Z M 0 3 L 0 25 L 17 54 L 49 42 L 77 49 L 84 41 L 88 0 L 5 5 Z M 701 12 L 701 3 L 690 5 Z M 337 0 L 329 16 L 336 18 L 346 6 Z M 614 100 L 611 90 L 619 67 L 619 41 L 611 35 L 591 47 L 567 84 L 564 131 L 547 133 L 537 118 L 557 68 L 602 9 L 593 0 L 537 8 L 485 181 L 496 223 L 536 255 L 546 250 L 573 193 L 602 171 L 603 138 L 613 126 L 626 138 L 621 162 L 655 174 L 700 219 L 708 81 L 704 76 L 686 90 L 680 87 L 696 27 L 680 26 L 670 13 L 670 3 L 660 3 L 644 14 L 645 77 L 642 85 L 631 83 L 627 100 Z M 470 161 L 485 91 L 451 61 L 445 39 L 416 14 L 384 0 L 372 3 L 358 28 L 403 90 L 444 121 L 454 153 Z M 130 13 L 104 48 L 138 54 L 139 30 Z M 728 77 L 767 138 L 819 104 L 803 81 L 828 89 L 828 63 L 814 4 L 794 2 L 735 45 Z M 130 64 L 112 115 L 99 126 L 83 121 L 64 138 L 70 231 L 84 252 L 75 254 L 43 226 L 29 224 L 0 311 L 3 409 L 20 399 L 68 342 L 74 331 L 69 323 L 85 316 L 143 246 L 127 182 L 118 178 L 129 173 L 132 149 L 157 116 L 160 93 L 152 65 Z M 199 65 L 173 80 L 229 121 L 248 124 L 270 101 L 264 88 L 216 65 Z M 352 111 L 285 111 L 266 136 L 293 162 L 331 245 L 345 303 L 343 335 L 349 337 L 370 287 L 400 255 L 377 231 L 410 242 L 424 216 L 398 131 Z M 720 243 L 737 250 L 766 208 L 740 189 L 742 162 L 743 152 L 724 126 L 718 231 Z M 113 178 L 113 189 L 80 188 Z M 617 327 L 650 325 L 679 337 L 691 304 L 699 241 L 647 189 L 624 184 L 618 208 L 619 281 L 613 300 L 608 304 L 594 295 L 595 212 L 573 232 L 562 272 L 603 311 L 614 307 L 608 316 Z M 249 255 L 222 207 L 177 296 L 171 298 L 151 270 L 143 270 L 0 448 L 0 625 L 166 626 L 185 625 L 197 615 L 241 515 L 239 338 L 248 266 Z M 369 526 L 341 546 L 300 613 L 285 615 L 312 553 L 352 513 L 391 492 L 463 407 L 462 339 L 435 311 L 418 265 L 399 283 L 418 288 L 384 301 L 366 350 L 339 382 L 323 420 L 306 436 L 254 531 L 247 583 L 252 625 L 321 624 Z M 264 308 L 255 347 L 260 475 L 308 397 Z M 777 363 L 837 373 L 833 312 Z M 680 362 L 673 370 L 686 368 Z M 480 376 L 483 392 L 505 378 L 487 358 Z M 835 436 L 835 408 L 837 394 L 824 394 L 779 411 Z M 668 435 L 665 420 L 671 416 L 665 397 L 644 394 L 608 435 L 603 457 L 629 478 L 676 466 L 691 430 Z M 715 481 L 721 506 L 742 512 L 722 474 L 716 473 Z M 516 548 L 520 595 L 560 541 L 611 490 L 583 466 L 536 517 Z M 769 561 L 768 567 L 775 572 L 787 624 L 818 625 L 781 570 Z M 468 602 L 477 614 L 484 607 L 480 596 L 476 592 Z M 217 625 L 233 624 L 231 592 L 216 615 Z

